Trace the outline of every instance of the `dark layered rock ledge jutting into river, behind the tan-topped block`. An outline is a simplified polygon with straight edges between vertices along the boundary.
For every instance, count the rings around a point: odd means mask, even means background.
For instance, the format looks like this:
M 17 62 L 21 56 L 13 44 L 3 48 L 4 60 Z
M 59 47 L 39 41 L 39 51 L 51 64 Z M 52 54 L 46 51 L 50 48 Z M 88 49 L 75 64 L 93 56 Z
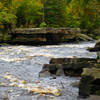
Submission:
M 42 73 L 50 75 L 80 76 L 83 68 L 96 67 L 97 60 L 90 58 L 52 58 L 50 64 L 44 64 Z

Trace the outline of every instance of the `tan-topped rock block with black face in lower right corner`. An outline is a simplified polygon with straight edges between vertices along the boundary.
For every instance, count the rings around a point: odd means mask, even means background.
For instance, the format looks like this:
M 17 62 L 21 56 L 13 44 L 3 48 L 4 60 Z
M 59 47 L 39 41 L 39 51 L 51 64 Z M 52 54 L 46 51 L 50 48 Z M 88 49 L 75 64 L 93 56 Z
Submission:
M 100 68 L 85 68 L 79 85 L 79 95 L 100 95 Z

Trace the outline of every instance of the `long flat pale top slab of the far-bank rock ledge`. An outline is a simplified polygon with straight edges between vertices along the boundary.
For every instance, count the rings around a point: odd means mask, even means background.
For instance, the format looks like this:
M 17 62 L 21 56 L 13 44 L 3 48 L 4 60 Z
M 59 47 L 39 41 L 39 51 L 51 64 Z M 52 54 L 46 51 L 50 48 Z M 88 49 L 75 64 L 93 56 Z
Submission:
M 21 34 L 47 34 L 47 33 L 64 33 L 64 34 L 71 34 L 71 33 L 81 33 L 81 30 L 78 28 L 18 28 L 15 29 L 15 33 L 21 33 Z

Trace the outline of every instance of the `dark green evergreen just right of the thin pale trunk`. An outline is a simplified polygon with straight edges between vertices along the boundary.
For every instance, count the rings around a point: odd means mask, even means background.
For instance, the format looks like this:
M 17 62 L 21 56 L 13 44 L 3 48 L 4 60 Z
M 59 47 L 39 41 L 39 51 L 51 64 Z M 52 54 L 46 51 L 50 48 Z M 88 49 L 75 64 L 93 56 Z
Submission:
M 44 0 L 44 18 L 48 27 L 66 25 L 66 0 Z

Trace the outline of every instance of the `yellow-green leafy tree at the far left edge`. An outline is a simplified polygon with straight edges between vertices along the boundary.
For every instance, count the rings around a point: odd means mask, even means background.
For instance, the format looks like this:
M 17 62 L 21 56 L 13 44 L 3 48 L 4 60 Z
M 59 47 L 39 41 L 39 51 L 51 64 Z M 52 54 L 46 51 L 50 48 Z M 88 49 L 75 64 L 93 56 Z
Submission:
M 12 30 L 12 26 L 15 22 L 16 16 L 9 13 L 9 8 L 0 2 L 0 37 L 2 37 L 2 41 L 8 39 L 7 33 Z

